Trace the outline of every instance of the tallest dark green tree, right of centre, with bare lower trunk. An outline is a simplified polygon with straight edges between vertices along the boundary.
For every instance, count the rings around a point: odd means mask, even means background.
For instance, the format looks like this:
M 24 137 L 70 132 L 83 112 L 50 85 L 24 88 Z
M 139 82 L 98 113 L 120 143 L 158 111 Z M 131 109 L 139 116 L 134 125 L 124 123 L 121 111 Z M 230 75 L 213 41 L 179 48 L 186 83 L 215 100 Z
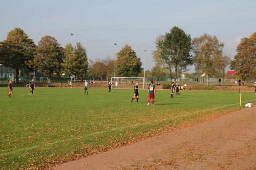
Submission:
M 175 82 L 177 79 L 177 71 L 179 69 L 186 70 L 188 65 L 192 65 L 192 39 L 181 28 L 173 27 L 167 32 L 164 38 L 160 38 L 158 48 L 160 49 L 160 57 L 166 65 L 173 65 L 175 71 Z

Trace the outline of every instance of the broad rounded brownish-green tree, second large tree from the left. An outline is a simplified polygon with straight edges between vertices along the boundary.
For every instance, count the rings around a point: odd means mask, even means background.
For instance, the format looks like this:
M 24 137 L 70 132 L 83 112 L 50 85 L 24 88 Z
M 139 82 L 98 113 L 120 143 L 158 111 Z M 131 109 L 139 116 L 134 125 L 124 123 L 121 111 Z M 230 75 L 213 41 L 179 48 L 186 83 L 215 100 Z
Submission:
M 63 62 L 63 48 L 59 42 L 51 36 L 44 36 L 38 42 L 34 65 L 47 75 L 48 82 L 51 81 L 53 73 L 60 74 Z

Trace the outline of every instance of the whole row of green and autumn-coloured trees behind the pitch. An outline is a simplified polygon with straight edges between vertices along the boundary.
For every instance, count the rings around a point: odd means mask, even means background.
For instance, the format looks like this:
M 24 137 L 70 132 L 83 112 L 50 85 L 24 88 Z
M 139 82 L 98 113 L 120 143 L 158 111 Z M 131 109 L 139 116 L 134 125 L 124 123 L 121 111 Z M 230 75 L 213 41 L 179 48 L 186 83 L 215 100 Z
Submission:
M 178 75 L 188 71 L 195 65 L 198 74 L 225 76 L 227 67 L 237 71 L 237 76 L 244 80 L 256 78 L 256 33 L 241 39 L 237 46 L 237 54 L 233 61 L 224 54 L 224 43 L 216 36 L 203 34 L 191 38 L 181 28 L 175 26 L 155 40 L 156 49 L 152 51 L 154 67 L 145 71 L 145 76 L 162 78 L 172 77 L 176 81 Z M 74 47 L 67 43 L 64 48 L 51 36 L 44 36 L 35 45 L 32 39 L 21 29 L 11 30 L 6 40 L 0 42 L 0 63 L 15 69 L 16 79 L 19 71 L 26 68 L 39 70 L 47 75 L 50 81 L 53 74 L 70 77 L 143 77 L 140 57 L 131 46 L 125 45 L 113 58 L 97 58 L 88 63 L 86 49 L 81 42 Z

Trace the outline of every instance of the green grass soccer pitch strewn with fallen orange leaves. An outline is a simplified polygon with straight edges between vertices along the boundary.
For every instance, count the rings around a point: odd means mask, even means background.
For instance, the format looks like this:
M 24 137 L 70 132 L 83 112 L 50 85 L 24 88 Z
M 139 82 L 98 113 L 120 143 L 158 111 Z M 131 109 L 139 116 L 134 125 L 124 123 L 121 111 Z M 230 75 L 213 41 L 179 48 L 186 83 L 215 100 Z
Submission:
M 147 92 L 131 103 L 133 90 L 0 88 L 0 168 L 43 168 L 134 142 L 164 130 L 204 121 L 239 108 L 237 92 L 158 90 L 154 106 Z M 242 93 L 243 102 L 255 100 Z M 217 125 L 216 125 L 217 126 Z

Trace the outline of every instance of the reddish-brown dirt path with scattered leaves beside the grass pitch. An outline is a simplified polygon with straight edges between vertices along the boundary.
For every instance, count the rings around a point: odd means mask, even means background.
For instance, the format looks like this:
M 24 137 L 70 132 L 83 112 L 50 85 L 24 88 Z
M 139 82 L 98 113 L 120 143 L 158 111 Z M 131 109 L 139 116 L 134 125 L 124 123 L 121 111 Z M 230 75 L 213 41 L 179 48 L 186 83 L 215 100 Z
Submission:
M 256 170 L 256 107 L 52 169 Z

